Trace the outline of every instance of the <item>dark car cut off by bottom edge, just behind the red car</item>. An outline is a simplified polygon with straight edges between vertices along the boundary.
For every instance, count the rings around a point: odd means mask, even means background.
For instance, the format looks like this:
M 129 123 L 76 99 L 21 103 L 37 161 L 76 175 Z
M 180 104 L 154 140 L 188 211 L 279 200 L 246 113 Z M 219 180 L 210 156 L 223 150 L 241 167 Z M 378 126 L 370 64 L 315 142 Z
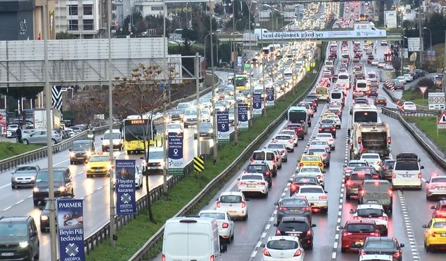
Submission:
M 393 260 L 403 260 L 404 244 L 399 244 L 395 237 L 367 237 L 360 248 L 360 255 L 392 255 Z

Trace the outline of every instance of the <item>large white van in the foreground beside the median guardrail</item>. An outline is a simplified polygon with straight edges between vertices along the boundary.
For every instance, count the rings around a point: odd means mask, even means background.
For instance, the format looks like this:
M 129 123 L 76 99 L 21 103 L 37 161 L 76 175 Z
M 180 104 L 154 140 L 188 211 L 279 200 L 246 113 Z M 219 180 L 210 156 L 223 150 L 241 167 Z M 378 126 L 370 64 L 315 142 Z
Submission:
M 226 251 L 220 250 L 218 223 L 208 217 L 178 216 L 166 221 L 162 236 L 162 260 L 209 261 Z

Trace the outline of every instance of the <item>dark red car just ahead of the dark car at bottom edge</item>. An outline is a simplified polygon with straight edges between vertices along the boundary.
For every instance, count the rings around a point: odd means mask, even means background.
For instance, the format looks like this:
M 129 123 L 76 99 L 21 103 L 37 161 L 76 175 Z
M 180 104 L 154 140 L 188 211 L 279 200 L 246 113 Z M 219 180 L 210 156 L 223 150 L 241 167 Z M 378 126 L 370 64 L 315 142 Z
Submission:
M 353 219 L 347 221 L 345 226 L 339 229 L 341 233 L 341 252 L 359 248 L 364 244 L 367 237 L 380 237 L 378 226 L 372 219 Z

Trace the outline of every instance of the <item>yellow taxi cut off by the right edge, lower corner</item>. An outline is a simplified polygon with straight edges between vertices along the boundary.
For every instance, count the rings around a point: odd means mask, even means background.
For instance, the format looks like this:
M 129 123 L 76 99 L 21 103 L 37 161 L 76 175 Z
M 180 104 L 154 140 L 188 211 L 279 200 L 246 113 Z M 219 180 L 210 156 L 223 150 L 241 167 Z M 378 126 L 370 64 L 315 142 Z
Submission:
M 431 219 L 429 224 L 423 225 L 424 248 L 431 251 L 432 248 L 446 246 L 446 219 Z

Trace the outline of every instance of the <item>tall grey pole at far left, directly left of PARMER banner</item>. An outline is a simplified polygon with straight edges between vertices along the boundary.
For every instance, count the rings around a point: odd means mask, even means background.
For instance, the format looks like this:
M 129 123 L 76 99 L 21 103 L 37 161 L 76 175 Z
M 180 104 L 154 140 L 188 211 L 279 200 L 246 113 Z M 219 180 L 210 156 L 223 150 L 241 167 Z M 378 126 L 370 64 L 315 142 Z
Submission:
M 45 56 L 45 103 L 46 117 L 51 118 L 51 89 L 49 87 L 48 72 L 48 10 L 47 0 L 43 1 L 43 52 Z M 53 172 L 53 146 L 52 146 L 52 125 L 51 120 L 47 120 L 47 159 L 48 159 L 48 201 L 49 201 L 49 247 L 51 260 L 57 259 L 56 243 L 56 211 L 54 209 L 54 172 Z

